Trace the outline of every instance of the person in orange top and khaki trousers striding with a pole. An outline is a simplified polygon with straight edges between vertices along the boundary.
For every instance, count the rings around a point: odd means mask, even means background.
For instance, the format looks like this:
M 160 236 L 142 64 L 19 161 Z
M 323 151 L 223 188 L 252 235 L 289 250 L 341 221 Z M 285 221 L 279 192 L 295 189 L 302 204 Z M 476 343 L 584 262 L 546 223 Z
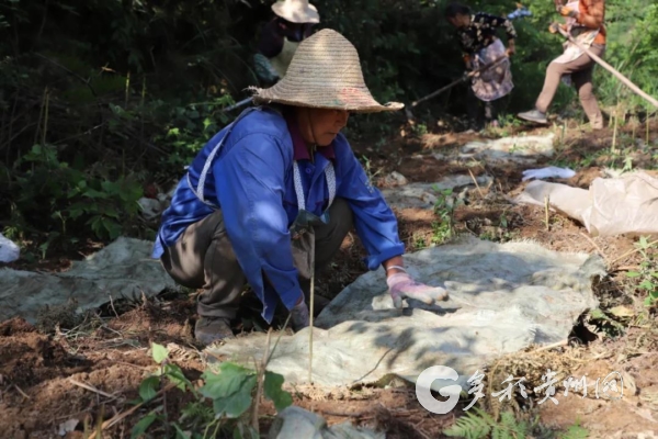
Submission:
M 604 0 L 577 0 L 566 5 L 558 5 L 557 12 L 566 19 L 563 30 L 594 55 L 603 57 L 605 53 L 606 32 Z M 549 32 L 557 32 L 552 24 Z M 544 88 L 538 95 L 533 110 L 519 113 L 518 116 L 537 124 L 547 124 L 546 112 L 555 98 L 560 79 L 567 85 L 574 85 L 578 91 L 580 104 L 590 122 L 592 130 L 603 128 L 603 115 L 593 93 L 592 74 L 595 61 L 575 44 L 566 42 L 564 53 L 554 59 L 546 69 Z

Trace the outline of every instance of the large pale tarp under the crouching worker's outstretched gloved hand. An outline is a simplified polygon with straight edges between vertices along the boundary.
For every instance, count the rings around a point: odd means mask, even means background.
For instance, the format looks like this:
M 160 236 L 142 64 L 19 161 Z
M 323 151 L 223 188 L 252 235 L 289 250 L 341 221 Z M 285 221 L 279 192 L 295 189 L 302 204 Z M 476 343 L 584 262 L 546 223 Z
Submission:
M 395 309 L 383 271 L 363 274 L 315 322 L 315 384 L 349 386 L 390 375 L 416 382 L 424 369 L 447 365 L 468 390 L 466 381 L 488 360 L 566 339 L 578 317 L 598 306 L 591 285 L 604 274 L 598 256 L 473 237 L 407 255 L 406 263 L 417 279 L 444 284 L 451 299 Z M 288 383 L 308 382 L 309 330 L 282 337 L 269 364 Z M 254 334 L 207 348 L 208 358 L 251 367 L 264 345 L 265 336 Z M 432 385 L 441 386 L 440 380 Z

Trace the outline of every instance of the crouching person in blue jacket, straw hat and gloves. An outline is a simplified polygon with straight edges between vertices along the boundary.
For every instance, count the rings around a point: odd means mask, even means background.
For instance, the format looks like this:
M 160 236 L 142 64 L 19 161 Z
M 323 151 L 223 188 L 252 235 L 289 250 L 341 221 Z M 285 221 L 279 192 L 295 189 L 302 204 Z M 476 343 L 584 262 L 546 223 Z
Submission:
M 249 283 L 272 323 L 283 304 L 294 330 L 309 325 L 310 279 L 354 227 L 370 270 L 383 268 L 393 305 L 447 296 L 405 269 L 396 217 L 341 130 L 351 113 L 399 110 L 371 95 L 359 54 L 322 30 L 296 50 L 275 86 L 200 151 L 163 212 L 154 258 L 179 284 L 202 289 L 195 338 L 232 338 Z M 386 291 L 385 290 L 385 291 Z

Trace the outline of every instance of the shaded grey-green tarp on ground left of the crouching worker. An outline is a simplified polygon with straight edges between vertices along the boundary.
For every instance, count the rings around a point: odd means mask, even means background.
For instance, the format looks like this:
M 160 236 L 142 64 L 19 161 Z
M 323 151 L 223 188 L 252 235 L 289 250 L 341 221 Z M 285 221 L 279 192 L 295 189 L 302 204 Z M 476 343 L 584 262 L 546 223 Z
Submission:
M 35 323 L 45 305 L 75 300 L 79 309 L 110 302 L 110 296 L 140 297 L 175 288 L 160 262 L 150 259 L 151 241 L 118 238 L 99 252 L 59 273 L 0 270 L 0 322 L 21 316 Z

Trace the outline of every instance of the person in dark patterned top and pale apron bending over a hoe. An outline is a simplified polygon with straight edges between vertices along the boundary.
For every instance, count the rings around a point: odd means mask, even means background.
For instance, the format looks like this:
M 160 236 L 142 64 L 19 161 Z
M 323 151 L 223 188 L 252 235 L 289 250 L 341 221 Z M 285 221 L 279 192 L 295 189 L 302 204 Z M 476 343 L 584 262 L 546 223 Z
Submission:
M 485 102 L 485 124 L 497 126 L 494 102 L 509 94 L 514 88 L 509 56 L 517 50 L 517 31 L 511 20 L 507 18 L 485 12 L 473 14 L 470 8 L 461 3 L 449 4 L 445 9 L 445 18 L 456 27 L 456 36 L 467 70 L 477 70 L 504 57 L 492 68 L 478 74 L 468 88 L 468 117 L 472 130 L 481 128 L 478 100 Z M 507 33 L 508 48 L 497 36 L 500 27 L 503 27 Z

